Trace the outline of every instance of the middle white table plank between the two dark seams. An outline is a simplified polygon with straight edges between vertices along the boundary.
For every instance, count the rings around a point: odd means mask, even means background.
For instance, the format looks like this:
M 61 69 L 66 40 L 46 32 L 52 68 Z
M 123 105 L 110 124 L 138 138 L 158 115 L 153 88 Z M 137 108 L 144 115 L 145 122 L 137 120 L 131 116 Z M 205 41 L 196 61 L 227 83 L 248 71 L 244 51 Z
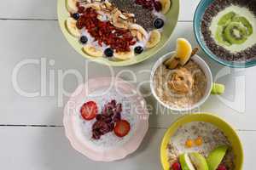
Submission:
M 174 49 L 174 42 L 177 37 L 186 37 L 192 42 L 193 46 L 196 46 L 191 23 L 179 22 L 174 32 L 171 42 L 159 54 L 138 65 L 113 68 L 114 75 L 120 75 L 125 80 L 131 81 L 134 77 L 129 72 L 121 72 L 124 70 L 134 71 L 136 74 L 135 78 L 137 79 L 135 82 L 138 86 L 139 82 L 148 82 L 149 72 L 155 60 L 162 54 Z M 3 106 L 0 108 L 0 124 L 61 125 L 63 107 L 57 104 L 60 103 L 61 99 L 63 99 L 63 104 L 65 104 L 67 97 L 59 97 L 61 96 L 61 92 L 58 92 L 58 90 L 61 90 L 61 87 L 58 85 L 58 70 L 63 72 L 70 69 L 76 70 L 84 77 L 83 79 L 85 79 L 85 72 L 88 72 L 89 77 L 111 75 L 108 67 L 96 63 L 90 62 L 88 69 L 85 69 L 84 61 L 86 59 L 77 54 L 67 43 L 61 35 L 56 21 L 0 20 L 0 36 L 5 40 L 0 42 L 0 54 L 4 56 L 0 63 L 2 68 L 0 76 L 7 80 L 5 83 L 0 84 L 0 93 L 4 97 L 2 99 Z M 212 68 L 213 75 L 216 75 L 219 70 L 224 68 L 211 59 L 207 59 L 205 54 L 201 53 L 201 56 L 207 60 L 207 63 Z M 16 65 L 25 59 L 37 59 L 38 62 L 41 59 L 47 59 L 45 96 L 42 94 L 39 97 L 26 98 L 20 96 L 15 91 L 12 82 L 12 73 Z M 50 59 L 55 60 L 55 65 L 49 65 Z M 50 70 L 53 70 L 55 73 L 55 81 L 49 81 Z M 146 73 L 142 71 L 146 71 Z M 221 98 L 211 96 L 207 100 L 207 103 L 201 107 L 201 111 L 217 113 L 226 118 L 238 129 L 255 130 L 256 124 L 254 120 L 256 115 L 253 113 L 255 108 L 253 102 L 254 96 L 249 92 L 256 90 L 256 87 L 253 85 L 255 84 L 253 77 L 256 74 L 256 67 L 247 69 L 246 71 L 236 71 L 233 69 L 228 69 L 228 71 L 232 73 L 217 80 L 217 82 L 223 82 L 226 85 L 226 93 Z M 238 79 L 238 85 L 240 84 L 238 88 L 236 88 L 235 82 L 237 76 L 244 77 L 244 80 Z M 42 89 L 40 84 L 40 65 L 26 65 L 20 69 L 17 77 L 19 86 L 23 90 L 34 92 Z M 73 76 L 66 77 L 63 80 L 63 84 L 65 90 L 68 92 L 73 92 L 78 86 L 78 82 Z M 243 84 L 245 88 L 239 88 Z M 55 96 L 50 96 L 49 88 L 54 85 Z M 150 92 L 149 84 L 145 83 L 141 91 L 143 94 L 148 94 Z M 236 95 L 234 96 L 234 94 Z M 233 98 L 238 99 L 238 104 L 232 101 Z M 158 104 L 153 96 L 149 96 L 146 99 L 148 105 L 153 105 L 154 108 L 157 107 Z M 230 103 L 227 103 L 225 99 L 229 99 Z M 241 102 L 239 102 L 240 100 Z M 246 108 L 245 110 L 241 110 L 240 113 L 239 108 L 236 108 L 237 105 L 240 105 L 241 108 L 245 105 Z M 236 108 L 236 110 L 230 107 Z M 177 118 L 175 115 L 162 115 L 160 113 L 160 110 L 152 111 L 150 127 L 168 127 Z

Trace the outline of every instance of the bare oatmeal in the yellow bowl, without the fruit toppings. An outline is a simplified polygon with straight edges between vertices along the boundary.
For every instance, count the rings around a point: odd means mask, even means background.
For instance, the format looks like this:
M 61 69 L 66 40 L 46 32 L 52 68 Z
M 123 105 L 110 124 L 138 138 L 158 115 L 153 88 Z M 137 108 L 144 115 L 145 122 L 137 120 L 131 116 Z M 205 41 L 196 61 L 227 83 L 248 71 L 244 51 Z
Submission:
M 201 138 L 202 143 L 196 144 L 196 139 Z M 187 145 L 187 141 L 194 141 L 192 146 Z M 208 122 L 189 122 L 179 127 L 176 133 L 173 134 L 170 143 L 167 145 L 168 161 L 173 165 L 178 161 L 178 157 L 183 153 L 199 153 L 207 158 L 212 150 L 219 146 L 227 146 L 224 158 L 220 165 L 226 169 L 235 169 L 234 152 L 230 147 L 230 141 L 224 133 Z

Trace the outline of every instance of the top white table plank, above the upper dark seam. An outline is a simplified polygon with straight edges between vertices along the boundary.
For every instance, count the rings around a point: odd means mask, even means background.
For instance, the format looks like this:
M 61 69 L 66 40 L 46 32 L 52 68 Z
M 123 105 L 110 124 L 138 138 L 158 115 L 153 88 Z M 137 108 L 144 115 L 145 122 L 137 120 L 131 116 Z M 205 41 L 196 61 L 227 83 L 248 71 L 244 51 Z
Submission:
M 193 20 L 196 5 L 200 0 L 180 2 L 179 20 Z M 57 0 L 9 0 L 0 6 L 0 19 L 57 20 L 56 8 Z

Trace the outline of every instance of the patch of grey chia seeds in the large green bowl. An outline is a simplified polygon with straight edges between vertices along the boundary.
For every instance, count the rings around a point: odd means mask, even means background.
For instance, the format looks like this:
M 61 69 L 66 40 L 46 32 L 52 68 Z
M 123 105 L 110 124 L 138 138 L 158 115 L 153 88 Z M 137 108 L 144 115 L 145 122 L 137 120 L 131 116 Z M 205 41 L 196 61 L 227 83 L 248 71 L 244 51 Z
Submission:
M 136 23 L 147 31 L 154 29 L 154 20 L 157 18 L 151 10 L 135 3 L 135 0 L 111 0 L 114 6 L 122 12 L 135 14 Z

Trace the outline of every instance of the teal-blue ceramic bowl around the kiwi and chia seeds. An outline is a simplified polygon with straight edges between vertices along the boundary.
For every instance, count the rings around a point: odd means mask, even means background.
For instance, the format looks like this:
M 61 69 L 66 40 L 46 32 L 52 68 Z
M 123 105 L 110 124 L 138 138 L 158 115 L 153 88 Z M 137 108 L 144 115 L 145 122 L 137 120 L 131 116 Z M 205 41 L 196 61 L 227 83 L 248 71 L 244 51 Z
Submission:
M 201 20 L 204 15 L 207 7 L 213 2 L 213 0 L 201 0 L 199 5 L 195 10 L 194 15 L 194 32 L 196 41 L 199 43 L 203 51 L 213 60 L 217 61 L 219 64 L 224 66 L 229 66 L 233 68 L 247 68 L 256 65 L 256 59 L 247 62 L 232 62 L 224 59 L 218 58 L 212 51 L 207 47 L 206 42 L 203 40 L 203 36 L 201 34 Z

